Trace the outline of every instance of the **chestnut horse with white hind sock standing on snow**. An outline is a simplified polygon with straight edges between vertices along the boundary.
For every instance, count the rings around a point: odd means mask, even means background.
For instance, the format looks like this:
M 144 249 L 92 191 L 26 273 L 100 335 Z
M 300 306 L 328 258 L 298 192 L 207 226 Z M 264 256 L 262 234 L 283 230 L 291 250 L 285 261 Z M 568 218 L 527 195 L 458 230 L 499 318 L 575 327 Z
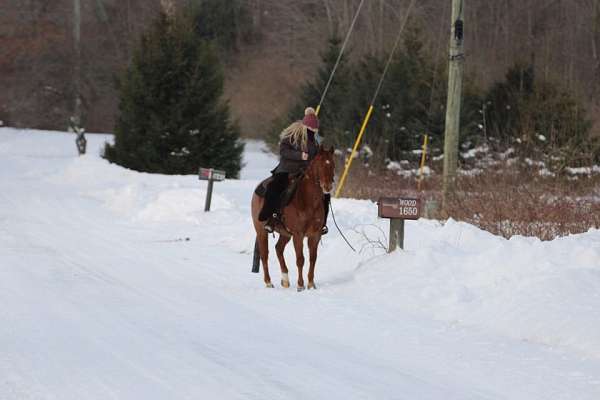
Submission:
M 304 238 L 308 238 L 308 252 L 310 267 L 308 270 L 308 288 L 316 289 L 315 263 L 317 262 L 317 246 L 321 240 L 321 228 L 325 218 L 323 194 L 330 193 L 333 186 L 335 163 L 333 147 L 324 150 L 322 147 L 315 158 L 310 162 L 304 175 L 298 182 L 298 187 L 290 203 L 282 210 L 284 226 L 277 225 L 275 230 L 279 233 L 279 240 L 275 245 L 277 258 L 281 267 L 281 285 L 290 287 L 287 265 L 283 257 L 285 246 L 293 239 L 296 250 L 296 266 L 298 267 L 298 291 L 304 290 Z M 256 230 L 255 262 L 258 267 L 258 255 L 263 264 L 265 285 L 272 288 L 269 275 L 269 234 L 264 229 L 264 224 L 258 220 L 258 214 L 263 206 L 264 198 L 256 193 L 252 196 L 252 222 Z M 257 254 L 258 252 L 258 254 Z M 258 272 L 258 270 L 256 270 Z

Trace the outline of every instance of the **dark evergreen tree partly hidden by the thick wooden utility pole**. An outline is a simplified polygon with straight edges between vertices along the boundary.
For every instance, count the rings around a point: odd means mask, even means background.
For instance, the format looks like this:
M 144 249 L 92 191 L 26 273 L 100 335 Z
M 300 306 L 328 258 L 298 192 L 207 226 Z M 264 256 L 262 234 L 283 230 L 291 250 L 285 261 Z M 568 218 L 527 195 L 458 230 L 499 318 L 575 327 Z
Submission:
M 447 74 L 435 70 L 434 60 L 423 51 L 421 37 L 418 26 L 406 30 L 369 123 L 368 140 L 375 153 L 393 160 L 410 158 L 412 151 L 422 146 L 424 135 L 429 136 L 431 148 L 443 147 Z M 365 80 L 371 91 L 386 59 L 371 62 L 373 77 Z M 461 141 L 478 134 L 473 122 L 478 103 L 477 91 L 467 81 L 461 107 Z

